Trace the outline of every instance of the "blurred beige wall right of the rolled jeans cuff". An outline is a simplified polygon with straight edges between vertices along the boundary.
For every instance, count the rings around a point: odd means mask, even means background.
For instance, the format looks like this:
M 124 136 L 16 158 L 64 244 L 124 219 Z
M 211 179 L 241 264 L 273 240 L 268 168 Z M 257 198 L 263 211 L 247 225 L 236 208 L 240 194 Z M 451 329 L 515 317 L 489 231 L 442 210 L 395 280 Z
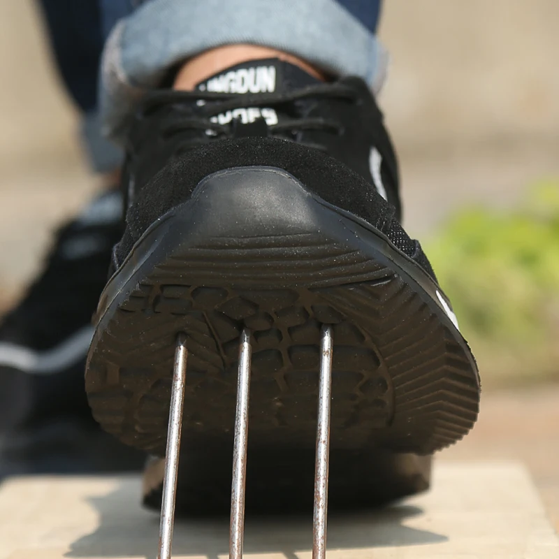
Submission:
M 402 146 L 557 147 L 557 0 L 387 0 L 382 96 Z

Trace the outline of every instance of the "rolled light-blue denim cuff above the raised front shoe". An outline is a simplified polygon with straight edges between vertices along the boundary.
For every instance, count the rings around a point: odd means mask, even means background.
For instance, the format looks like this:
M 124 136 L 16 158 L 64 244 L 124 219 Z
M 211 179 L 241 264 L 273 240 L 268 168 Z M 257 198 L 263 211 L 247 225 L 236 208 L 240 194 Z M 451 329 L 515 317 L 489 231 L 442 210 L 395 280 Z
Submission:
M 335 0 L 152 0 L 120 20 L 101 64 L 103 133 L 120 141 L 133 107 L 170 68 L 205 50 L 248 43 L 289 52 L 377 92 L 387 55 Z

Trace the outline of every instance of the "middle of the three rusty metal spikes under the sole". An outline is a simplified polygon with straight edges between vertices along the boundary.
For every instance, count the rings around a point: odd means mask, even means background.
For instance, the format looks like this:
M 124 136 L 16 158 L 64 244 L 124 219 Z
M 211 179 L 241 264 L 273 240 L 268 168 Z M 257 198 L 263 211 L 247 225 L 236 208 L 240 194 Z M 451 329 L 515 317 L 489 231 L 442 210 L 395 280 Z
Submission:
M 231 484 L 231 525 L 229 530 L 229 559 L 242 559 L 245 536 L 245 481 L 247 478 L 247 440 L 249 430 L 250 332 L 243 330 L 239 346 L 237 411 L 233 445 L 233 483 Z

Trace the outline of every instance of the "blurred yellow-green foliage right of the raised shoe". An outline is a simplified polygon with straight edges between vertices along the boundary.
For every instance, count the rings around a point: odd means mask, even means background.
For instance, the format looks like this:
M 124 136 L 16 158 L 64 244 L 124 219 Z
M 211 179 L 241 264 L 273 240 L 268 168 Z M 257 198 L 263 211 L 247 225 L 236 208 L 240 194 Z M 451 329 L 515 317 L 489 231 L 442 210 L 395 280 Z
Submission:
M 484 386 L 559 380 L 559 182 L 459 212 L 427 243 Z

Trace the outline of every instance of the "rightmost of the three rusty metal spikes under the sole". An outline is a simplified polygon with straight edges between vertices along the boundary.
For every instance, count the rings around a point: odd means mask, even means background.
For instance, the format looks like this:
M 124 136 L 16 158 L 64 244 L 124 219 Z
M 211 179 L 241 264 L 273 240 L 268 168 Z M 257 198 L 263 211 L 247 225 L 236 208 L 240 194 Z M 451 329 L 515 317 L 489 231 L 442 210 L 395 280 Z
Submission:
M 312 559 L 326 558 L 328 516 L 328 463 L 330 460 L 330 402 L 332 397 L 331 326 L 321 331 L 319 407 L 317 424 L 317 463 L 314 468 L 314 516 L 312 523 Z

